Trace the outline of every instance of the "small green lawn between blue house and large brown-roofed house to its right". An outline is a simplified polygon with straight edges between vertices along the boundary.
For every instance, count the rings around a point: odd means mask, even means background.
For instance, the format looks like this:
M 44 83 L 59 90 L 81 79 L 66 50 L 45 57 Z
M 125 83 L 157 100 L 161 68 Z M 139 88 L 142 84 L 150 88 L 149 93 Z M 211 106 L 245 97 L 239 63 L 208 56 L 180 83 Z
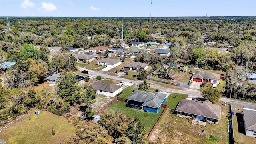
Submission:
M 176 108 L 178 102 L 180 102 L 181 99 L 186 99 L 187 97 L 187 94 L 170 94 L 167 98 L 167 102 L 164 104 L 166 104 L 168 108 Z

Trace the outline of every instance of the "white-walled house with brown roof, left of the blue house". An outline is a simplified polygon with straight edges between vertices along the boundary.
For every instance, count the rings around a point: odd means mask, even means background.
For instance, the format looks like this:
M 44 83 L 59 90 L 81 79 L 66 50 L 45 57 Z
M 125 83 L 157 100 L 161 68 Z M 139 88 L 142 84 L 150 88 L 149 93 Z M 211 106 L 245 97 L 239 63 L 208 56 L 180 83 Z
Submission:
M 122 91 L 122 86 L 116 84 L 108 84 L 104 82 L 94 81 L 90 83 L 92 85 L 93 90 L 97 90 L 96 94 L 100 94 L 103 96 L 114 97 L 116 94 Z

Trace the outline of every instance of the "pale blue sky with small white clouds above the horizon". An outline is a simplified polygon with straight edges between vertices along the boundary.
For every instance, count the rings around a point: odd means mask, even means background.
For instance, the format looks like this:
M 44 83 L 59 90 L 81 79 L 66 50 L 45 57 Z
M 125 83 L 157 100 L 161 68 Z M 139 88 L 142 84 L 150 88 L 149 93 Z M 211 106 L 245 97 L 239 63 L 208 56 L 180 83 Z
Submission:
M 256 16 L 256 0 L 0 0 L 0 16 Z

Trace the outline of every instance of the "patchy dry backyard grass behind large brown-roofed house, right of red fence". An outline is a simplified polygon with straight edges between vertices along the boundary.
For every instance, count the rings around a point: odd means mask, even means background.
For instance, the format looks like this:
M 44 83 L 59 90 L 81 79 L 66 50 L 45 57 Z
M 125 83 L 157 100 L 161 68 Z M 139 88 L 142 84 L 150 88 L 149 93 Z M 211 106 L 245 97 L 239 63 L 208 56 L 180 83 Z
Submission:
M 221 120 L 218 125 L 207 124 L 206 127 L 191 124 L 185 118 L 166 112 L 150 140 L 164 144 L 229 144 L 227 111 L 228 106 L 222 106 Z M 199 135 L 202 130 L 205 132 Z M 210 135 L 217 139 L 212 141 Z

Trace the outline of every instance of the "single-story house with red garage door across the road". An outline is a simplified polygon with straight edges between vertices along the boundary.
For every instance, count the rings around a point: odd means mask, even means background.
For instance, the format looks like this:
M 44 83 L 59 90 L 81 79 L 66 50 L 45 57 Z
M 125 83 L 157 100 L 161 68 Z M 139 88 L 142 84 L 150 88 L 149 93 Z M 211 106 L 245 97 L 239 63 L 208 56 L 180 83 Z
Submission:
M 219 84 L 220 83 L 220 74 L 215 74 L 212 72 L 203 72 L 203 71 L 196 71 L 192 75 L 192 79 L 194 82 L 211 82 L 213 84 Z

